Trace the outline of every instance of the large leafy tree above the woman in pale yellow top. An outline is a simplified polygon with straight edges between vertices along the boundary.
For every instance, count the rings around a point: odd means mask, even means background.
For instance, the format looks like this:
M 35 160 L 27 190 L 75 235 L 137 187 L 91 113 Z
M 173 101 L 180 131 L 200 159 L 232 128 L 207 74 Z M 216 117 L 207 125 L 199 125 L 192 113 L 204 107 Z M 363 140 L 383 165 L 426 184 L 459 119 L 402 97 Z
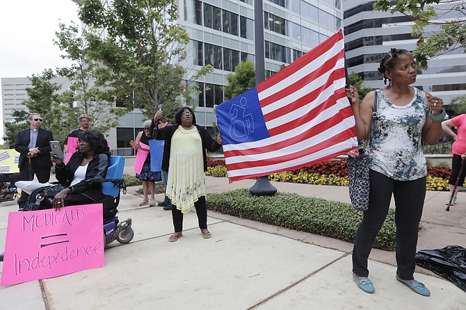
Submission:
M 188 76 L 181 65 L 189 42 L 177 24 L 176 0 L 83 0 L 79 17 L 90 55 L 111 71 L 111 86 L 122 104 L 139 108 L 147 117 L 163 108 L 174 115 L 182 95 L 211 66 Z

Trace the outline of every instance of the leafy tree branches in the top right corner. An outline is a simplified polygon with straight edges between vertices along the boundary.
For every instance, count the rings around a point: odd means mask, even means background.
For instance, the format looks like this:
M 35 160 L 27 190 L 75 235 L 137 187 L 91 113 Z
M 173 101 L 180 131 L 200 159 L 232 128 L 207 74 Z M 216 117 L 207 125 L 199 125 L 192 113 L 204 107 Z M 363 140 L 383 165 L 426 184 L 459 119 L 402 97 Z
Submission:
M 435 10 L 435 4 L 447 9 Z M 455 49 L 466 51 L 466 8 L 464 1 L 452 0 L 378 0 L 376 10 L 402 13 L 414 19 L 412 35 L 421 36 L 412 56 L 419 67 L 427 68 L 428 59 Z M 435 32 L 423 33 L 428 26 L 435 26 Z

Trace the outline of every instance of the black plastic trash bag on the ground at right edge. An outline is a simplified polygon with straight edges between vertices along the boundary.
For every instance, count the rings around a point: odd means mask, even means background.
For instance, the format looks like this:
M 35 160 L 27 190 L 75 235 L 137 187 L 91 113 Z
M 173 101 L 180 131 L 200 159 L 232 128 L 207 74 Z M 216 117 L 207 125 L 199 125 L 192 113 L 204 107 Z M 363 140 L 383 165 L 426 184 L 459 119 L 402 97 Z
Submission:
M 416 253 L 416 263 L 435 275 L 440 275 L 466 292 L 466 249 L 449 245 L 443 249 L 421 250 Z

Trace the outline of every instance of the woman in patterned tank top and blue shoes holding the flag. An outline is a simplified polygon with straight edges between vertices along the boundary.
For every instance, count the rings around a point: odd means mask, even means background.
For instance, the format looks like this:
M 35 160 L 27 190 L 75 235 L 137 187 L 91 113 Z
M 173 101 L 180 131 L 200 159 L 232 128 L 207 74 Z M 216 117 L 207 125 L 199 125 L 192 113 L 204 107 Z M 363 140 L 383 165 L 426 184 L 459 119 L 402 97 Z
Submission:
M 392 49 L 380 61 L 384 88 L 369 92 L 360 104 L 354 86 L 346 88 L 355 115 L 357 138 L 369 136 L 374 99 L 376 122 L 369 156 L 369 210 L 364 212 L 353 247 L 353 279 L 362 291 L 375 290 L 367 260 L 387 216 L 392 194 L 396 204 L 396 279 L 420 295 L 431 292 L 414 278 L 417 231 L 426 196 L 426 158 L 421 140 L 434 145 L 442 136 L 445 111 L 438 97 L 413 88 L 415 60 L 405 49 Z

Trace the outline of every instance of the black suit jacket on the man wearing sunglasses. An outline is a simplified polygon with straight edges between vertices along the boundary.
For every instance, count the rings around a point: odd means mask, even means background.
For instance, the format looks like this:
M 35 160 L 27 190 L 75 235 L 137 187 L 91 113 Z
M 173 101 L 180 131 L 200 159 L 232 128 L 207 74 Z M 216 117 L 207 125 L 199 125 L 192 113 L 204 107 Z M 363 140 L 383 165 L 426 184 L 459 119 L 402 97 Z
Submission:
M 19 152 L 19 163 L 18 167 L 21 167 L 24 161 L 28 160 L 29 153 L 29 141 L 31 140 L 31 129 L 24 129 L 19 131 L 15 140 L 15 149 Z M 53 164 L 50 160 L 51 147 L 49 142 L 54 140 L 54 136 L 51 131 L 47 129 L 38 129 L 38 138 L 35 142 L 35 146 L 39 147 L 40 153 L 35 157 L 35 164 L 39 168 L 51 167 Z

